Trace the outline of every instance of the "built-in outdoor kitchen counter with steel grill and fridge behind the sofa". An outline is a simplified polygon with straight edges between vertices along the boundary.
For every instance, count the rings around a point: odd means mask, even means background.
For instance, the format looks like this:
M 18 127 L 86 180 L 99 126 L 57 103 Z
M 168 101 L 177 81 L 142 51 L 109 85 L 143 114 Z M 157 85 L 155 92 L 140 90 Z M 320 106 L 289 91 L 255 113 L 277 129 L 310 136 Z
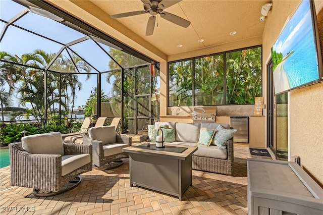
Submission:
M 265 116 L 254 116 L 254 105 L 174 106 L 167 108 L 160 122 L 217 122 L 237 129 L 236 144 L 265 148 Z M 246 124 L 247 123 L 247 124 Z M 234 126 L 235 125 L 235 126 Z M 242 136 L 241 136 L 242 135 Z M 242 138 L 241 138 L 242 137 Z M 238 141 L 236 141 L 237 139 Z

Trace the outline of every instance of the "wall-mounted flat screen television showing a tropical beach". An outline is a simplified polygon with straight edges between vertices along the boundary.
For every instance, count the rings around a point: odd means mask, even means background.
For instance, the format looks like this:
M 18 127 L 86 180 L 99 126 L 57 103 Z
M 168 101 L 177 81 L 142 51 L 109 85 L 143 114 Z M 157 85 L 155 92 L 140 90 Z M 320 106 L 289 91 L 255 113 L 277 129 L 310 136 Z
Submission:
M 322 80 L 314 4 L 303 0 L 272 47 L 275 93 L 314 84 Z

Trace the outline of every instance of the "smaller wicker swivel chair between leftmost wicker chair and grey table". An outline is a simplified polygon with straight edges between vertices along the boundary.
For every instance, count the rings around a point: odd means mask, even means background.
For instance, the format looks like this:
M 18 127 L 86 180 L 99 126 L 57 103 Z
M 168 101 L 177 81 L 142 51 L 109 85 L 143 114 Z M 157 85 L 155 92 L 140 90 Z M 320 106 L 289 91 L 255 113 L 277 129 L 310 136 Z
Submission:
M 83 134 L 83 144 L 93 146 L 93 167 L 107 170 L 123 164 L 121 158 L 129 157 L 129 153 L 122 149 L 131 146 L 130 136 L 116 134 L 115 126 L 101 126 L 90 128 Z

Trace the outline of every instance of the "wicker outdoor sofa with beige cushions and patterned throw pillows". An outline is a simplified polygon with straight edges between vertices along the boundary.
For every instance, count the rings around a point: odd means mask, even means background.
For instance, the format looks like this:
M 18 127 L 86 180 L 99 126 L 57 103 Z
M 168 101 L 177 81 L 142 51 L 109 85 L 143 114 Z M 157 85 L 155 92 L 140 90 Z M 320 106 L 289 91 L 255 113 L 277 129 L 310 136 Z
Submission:
M 148 125 L 148 135 L 144 135 L 141 141 L 155 141 L 155 136 L 160 134 L 156 133 L 159 127 L 166 143 L 198 146 L 192 155 L 192 169 L 232 175 L 233 133 L 236 130 L 229 124 L 156 122 Z M 219 139 L 222 141 L 220 146 L 215 144 L 220 142 Z

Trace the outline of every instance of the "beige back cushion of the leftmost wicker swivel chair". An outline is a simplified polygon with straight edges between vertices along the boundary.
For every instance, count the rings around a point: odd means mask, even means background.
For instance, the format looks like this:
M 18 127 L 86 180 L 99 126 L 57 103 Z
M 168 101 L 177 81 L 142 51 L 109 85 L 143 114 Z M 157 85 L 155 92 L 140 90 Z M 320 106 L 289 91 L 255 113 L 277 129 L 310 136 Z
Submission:
M 62 134 L 50 132 L 34 134 L 21 138 L 22 148 L 32 154 L 61 154 L 64 155 Z

